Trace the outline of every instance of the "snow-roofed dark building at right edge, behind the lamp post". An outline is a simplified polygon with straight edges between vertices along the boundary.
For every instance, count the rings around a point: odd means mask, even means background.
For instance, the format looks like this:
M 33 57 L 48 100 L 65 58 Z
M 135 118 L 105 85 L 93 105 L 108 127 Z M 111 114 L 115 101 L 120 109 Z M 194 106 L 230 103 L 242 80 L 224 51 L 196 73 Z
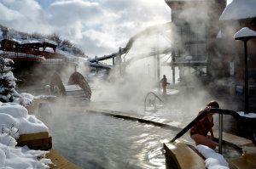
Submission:
M 214 63 L 222 62 L 212 70 L 216 76 L 229 78 L 236 85 L 244 85 L 244 44 L 234 35 L 243 27 L 256 31 L 256 0 L 233 0 L 219 17 L 220 31 L 216 40 L 219 57 Z M 256 80 L 256 39 L 247 42 L 248 79 L 253 87 Z M 253 88 L 252 88 L 253 89 Z M 253 89 L 255 92 L 255 88 Z

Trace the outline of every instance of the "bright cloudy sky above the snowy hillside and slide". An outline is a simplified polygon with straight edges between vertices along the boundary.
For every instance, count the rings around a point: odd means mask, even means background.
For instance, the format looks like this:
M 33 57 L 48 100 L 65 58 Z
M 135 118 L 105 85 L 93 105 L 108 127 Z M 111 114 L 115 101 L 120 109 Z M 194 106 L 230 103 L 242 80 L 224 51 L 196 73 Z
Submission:
M 58 34 L 89 57 L 118 52 L 149 25 L 171 20 L 165 0 L 0 0 L 0 24 Z

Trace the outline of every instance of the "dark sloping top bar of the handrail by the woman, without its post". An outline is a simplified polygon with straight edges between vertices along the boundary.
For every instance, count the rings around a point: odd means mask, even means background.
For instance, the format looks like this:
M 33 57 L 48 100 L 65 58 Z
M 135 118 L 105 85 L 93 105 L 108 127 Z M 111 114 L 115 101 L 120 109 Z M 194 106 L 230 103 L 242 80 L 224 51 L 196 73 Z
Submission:
M 193 127 L 198 121 L 201 121 L 201 119 L 209 113 L 218 113 L 220 115 L 232 115 L 236 118 L 237 121 L 246 121 L 249 124 L 256 123 L 256 118 L 248 118 L 245 116 L 241 116 L 238 113 L 236 113 L 236 111 L 212 108 L 211 111 L 204 110 L 200 115 L 195 117 L 195 119 L 193 121 L 191 121 L 186 127 L 184 127 L 183 130 L 181 130 L 180 132 L 177 133 L 175 138 L 172 138 L 170 143 L 173 143 L 177 138 L 182 137 L 185 132 L 188 132 L 191 127 Z M 253 126 L 255 126 L 255 125 L 253 125 Z M 253 141 L 253 144 L 256 146 L 256 138 L 255 138 L 256 133 L 254 133 L 255 131 L 256 131 L 256 129 L 254 128 L 253 136 L 251 136 L 251 139 Z

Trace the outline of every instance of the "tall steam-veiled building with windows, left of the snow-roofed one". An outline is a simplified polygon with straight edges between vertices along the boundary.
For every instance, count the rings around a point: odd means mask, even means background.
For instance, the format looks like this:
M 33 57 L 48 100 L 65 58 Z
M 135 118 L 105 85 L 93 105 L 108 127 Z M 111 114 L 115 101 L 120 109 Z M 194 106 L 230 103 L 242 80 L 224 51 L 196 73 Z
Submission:
M 214 39 L 225 0 L 166 0 L 172 10 L 172 70 L 178 67 L 181 82 L 195 76 L 211 76 Z M 175 73 L 173 73 L 175 75 Z M 175 78 L 173 78 L 174 80 Z

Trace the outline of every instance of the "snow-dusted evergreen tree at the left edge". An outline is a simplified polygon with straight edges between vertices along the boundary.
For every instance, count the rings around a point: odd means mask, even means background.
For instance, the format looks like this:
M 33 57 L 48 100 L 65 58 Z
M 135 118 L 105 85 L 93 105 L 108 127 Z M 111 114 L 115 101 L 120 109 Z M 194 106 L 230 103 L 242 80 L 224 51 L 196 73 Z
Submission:
M 0 101 L 3 103 L 12 102 L 20 97 L 16 92 L 16 78 L 10 65 L 14 64 L 12 59 L 7 59 L 5 54 L 0 54 Z

